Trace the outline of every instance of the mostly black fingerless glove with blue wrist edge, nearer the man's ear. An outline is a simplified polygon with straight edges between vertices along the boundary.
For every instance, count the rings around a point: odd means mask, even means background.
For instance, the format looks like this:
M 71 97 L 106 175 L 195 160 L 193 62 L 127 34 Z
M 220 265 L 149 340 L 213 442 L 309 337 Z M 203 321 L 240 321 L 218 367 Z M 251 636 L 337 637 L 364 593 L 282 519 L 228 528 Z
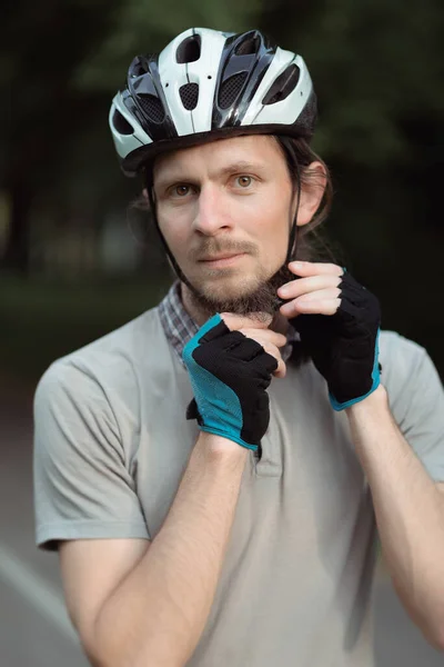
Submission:
M 377 298 L 345 272 L 341 306 L 334 315 L 299 315 L 291 323 L 325 378 L 330 402 L 343 410 L 370 396 L 380 385 Z

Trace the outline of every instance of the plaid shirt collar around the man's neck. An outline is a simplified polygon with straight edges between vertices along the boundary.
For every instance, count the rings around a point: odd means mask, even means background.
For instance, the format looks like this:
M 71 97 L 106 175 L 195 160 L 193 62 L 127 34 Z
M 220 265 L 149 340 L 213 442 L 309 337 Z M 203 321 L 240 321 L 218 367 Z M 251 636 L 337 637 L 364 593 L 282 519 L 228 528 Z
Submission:
M 167 339 L 183 364 L 183 348 L 199 331 L 200 327 L 183 307 L 179 280 L 175 280 L 167 296 L 159 303 L 158 311 Z M 286 338 L 287 344 L 281 350 L 282 358 L 285 362 L 291 356 L 293 344 L 300 340 L 299 334 L 292 326 L 289 327 Z

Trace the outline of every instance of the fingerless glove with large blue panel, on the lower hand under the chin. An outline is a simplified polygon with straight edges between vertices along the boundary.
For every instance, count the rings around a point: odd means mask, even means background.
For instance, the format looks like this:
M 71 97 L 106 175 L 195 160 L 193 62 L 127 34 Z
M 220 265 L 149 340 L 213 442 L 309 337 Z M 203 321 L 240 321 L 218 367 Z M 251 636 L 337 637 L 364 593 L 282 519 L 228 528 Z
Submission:
M 256 450 L 269 427 L 266 389 L 276 359 L 215 315 L 185 345 L 183 360 L 194 392 L 186 418 L 198 419 L 201 430 Z

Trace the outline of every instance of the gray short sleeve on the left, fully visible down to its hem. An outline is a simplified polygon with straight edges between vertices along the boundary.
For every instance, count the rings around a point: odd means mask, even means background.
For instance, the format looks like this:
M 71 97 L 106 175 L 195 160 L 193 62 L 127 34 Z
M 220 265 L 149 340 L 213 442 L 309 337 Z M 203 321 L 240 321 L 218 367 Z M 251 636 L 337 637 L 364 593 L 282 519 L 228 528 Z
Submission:
M 65 360 L 42 376 L 34 395 L 36 541 L 147 538 L 130 461 L 100 382 Z

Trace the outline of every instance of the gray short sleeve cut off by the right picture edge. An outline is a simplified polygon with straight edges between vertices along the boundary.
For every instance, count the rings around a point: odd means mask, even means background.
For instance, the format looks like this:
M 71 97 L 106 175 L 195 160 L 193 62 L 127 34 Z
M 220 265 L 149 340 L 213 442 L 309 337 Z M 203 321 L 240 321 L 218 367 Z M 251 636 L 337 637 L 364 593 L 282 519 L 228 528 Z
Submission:
M 420 345 L 385 332 L 382 381 L 393 416 L 430 476 L 444 481 L 444 390 L 437 370 Z

